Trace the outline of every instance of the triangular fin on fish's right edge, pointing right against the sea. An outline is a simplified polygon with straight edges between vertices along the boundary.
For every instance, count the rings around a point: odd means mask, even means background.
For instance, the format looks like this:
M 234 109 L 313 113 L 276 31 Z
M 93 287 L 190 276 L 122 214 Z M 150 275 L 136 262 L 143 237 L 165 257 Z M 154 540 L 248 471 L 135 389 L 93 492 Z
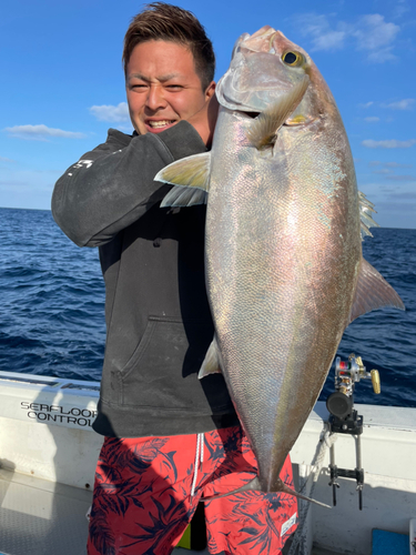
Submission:
M 392 285 L 386 282 L 372 264 L 363 259 L 349 322 L 353 322 L 353 320 L 366 312 L 382 309 L 383 306 L 394 306 L 405 310 L 402 299 Z

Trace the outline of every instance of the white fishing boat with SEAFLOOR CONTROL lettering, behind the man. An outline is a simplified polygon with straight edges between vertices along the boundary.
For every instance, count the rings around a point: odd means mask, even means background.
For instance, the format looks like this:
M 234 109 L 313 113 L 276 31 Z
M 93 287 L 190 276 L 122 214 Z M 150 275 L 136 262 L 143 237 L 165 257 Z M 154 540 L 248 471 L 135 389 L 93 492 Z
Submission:
M 0 555 L 85 553 L 85 514 L 102 443 L 91 427 L 98 398 L 98 382 L 0 372 Z M 363 416 L 359 444 L 357 435 L 329 433 L 326 404 L 317 402 L 291 452 L 297 488 L 332 506 L 300 504 L 293 553 L 416 553 L 416 537 L 409 536 L 416 518 L 416 408 L 355 410 Z M 357 470 L 364 477 L 358 491 Z M 347 471 L 349 477 L 343 476 Z M 175 555 L 207 553 L 183 546 Z

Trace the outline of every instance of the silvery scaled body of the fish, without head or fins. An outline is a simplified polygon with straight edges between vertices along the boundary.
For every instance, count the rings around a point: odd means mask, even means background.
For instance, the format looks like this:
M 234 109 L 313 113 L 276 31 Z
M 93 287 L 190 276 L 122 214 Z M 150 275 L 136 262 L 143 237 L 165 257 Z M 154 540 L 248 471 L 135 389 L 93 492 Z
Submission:
M 221 108 L 212 151 L 207 293 L 221 367 L 266 492 L 278 488 L 324 384 L 361 265 L 354 164 L 333 112 L 283 125 L 268 158 L 246 138 L 252 121 Z

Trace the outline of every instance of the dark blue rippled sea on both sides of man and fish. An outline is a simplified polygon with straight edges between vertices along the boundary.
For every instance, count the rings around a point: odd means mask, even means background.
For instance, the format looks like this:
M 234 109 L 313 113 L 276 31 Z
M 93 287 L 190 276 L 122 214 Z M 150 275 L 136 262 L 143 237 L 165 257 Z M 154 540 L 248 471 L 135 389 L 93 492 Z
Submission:
M 358 317 L 338 356 L 355 353 L 381 373 L 382 393 L 363 380 L 355 402 L 416 407 L 416 230 L 372 232 L 364 256 L 395 287 L 406 312 L 383 309 Z M 98 250 L 71 243 L 50 211 L 0 209 L 0 370 L 100 380 L 104 342 Z M 334 369 L 321 400 L 333 391 Z

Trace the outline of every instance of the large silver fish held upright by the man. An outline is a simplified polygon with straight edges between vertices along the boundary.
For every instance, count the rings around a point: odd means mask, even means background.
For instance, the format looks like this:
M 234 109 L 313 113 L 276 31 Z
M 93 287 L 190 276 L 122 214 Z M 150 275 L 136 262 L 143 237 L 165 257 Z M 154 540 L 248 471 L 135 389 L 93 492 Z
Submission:
M 308 54 L 271 27 L 245 33 L 216 94 L 212 151 L 155 179 L 185 185 L 164 205 L 207 202 L 215 337 L 201 372 L 224 374 L 258 463 L 248 487 L 295 494 L 278 474 L 345 327 L 404 305 L 363 259 L 373 205 L 357 191 L 339 112 Z

